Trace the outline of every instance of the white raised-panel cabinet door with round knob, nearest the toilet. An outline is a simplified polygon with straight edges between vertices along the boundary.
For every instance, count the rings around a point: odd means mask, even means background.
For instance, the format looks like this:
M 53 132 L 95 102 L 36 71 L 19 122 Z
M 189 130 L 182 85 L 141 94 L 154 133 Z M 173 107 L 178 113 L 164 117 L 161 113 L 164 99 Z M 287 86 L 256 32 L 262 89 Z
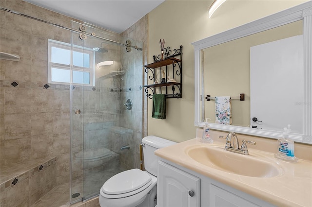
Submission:
M 200 179 L 159 161 L 157 207 L 200 207 Z

